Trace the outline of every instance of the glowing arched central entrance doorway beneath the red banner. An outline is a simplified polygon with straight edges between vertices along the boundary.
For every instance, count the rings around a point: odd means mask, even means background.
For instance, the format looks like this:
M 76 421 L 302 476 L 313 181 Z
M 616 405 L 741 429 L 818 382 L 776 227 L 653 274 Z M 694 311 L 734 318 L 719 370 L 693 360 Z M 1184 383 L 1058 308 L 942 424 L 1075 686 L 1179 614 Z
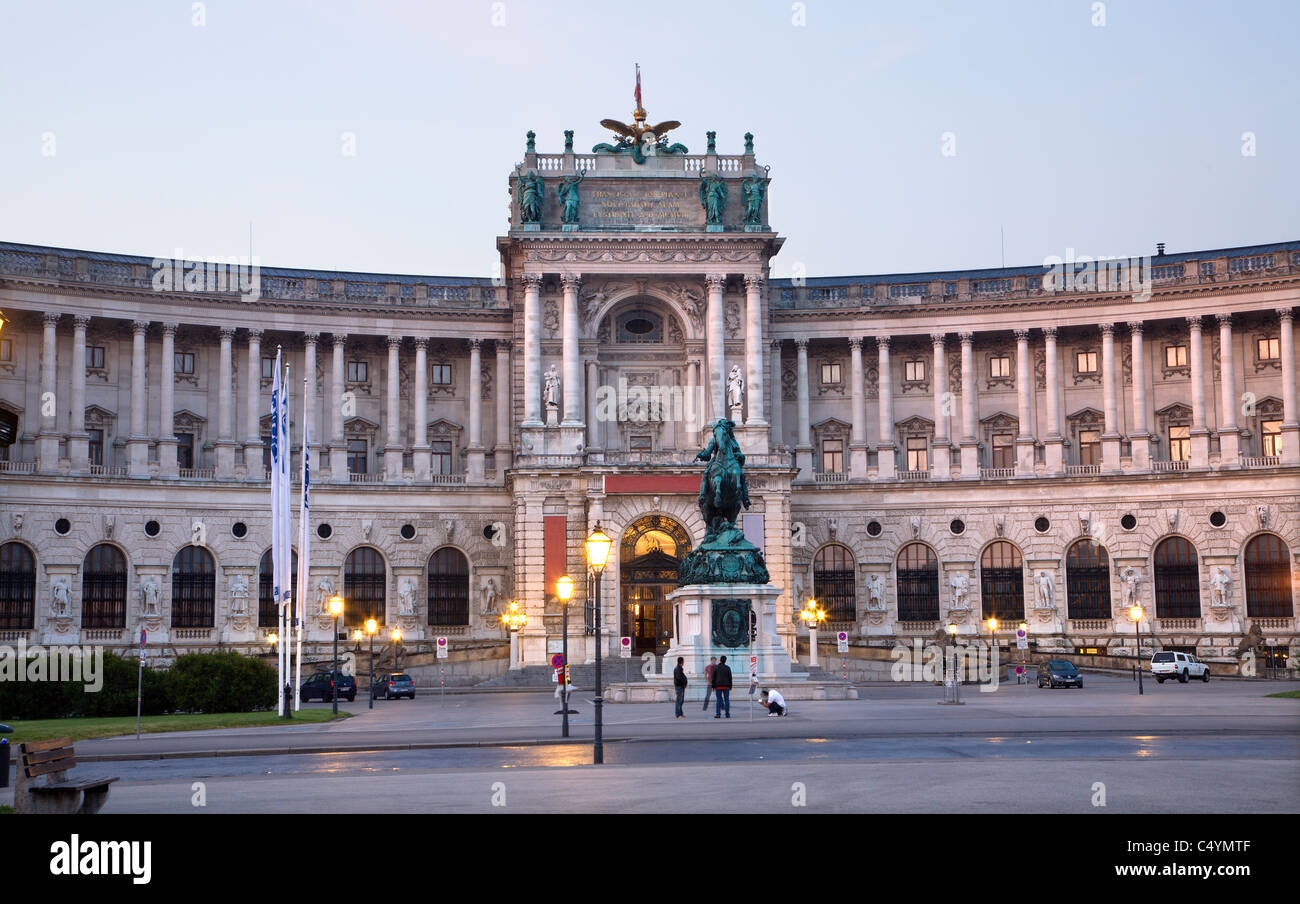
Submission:
M 690 552 L 686 528 L 666 515 L 638 518 L 623 532 L 619 549 L 620 626 L 634 656 L 662 656 L 672 643 L 672 604 L 677 566 Z

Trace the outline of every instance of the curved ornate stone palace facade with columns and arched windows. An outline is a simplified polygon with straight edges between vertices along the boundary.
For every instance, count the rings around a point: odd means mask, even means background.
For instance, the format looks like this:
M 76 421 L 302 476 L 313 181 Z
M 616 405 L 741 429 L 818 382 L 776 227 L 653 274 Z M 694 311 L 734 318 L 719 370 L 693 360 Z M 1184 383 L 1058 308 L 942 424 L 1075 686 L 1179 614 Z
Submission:
M 1286 656 L 1300 242 L 774 280 L 768 169 L 749 139 L 712 146 L 530 138 L 495 281 L 166 281 L 144 258 L 0 245 L 0 643 L 129 646 L 144 626 L 176 652 L 264 649 L 280 349 L 295 459 L 312 424 L 320 649 L 334 592 L 348 624 L 415 644 L 506 644 L 515 600 L 541 665 L 554 579 L 585 571 L 599 522 L 619 541 L 606 653 L 620 633 L 662 652 L 663 594 L 703 536 L 693 457 L 728 416 L 792 653 L 816 596 L 859 644 L 996 615 L 1040 650 L 1131 650 L 1140 602 L 1160 645 L 1227 657 L 1257 626 Z M 588 588 L 575 659 L 594 656 Z

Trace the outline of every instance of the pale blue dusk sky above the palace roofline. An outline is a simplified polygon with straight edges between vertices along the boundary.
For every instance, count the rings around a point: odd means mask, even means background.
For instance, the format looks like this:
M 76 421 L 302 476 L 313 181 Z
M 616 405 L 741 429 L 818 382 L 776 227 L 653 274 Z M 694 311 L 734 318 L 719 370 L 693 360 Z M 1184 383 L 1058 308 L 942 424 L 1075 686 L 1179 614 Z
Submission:
M 1300 4 L 803 7 L 9 0 L 0 239 L 486 276 L 524 133 L 604 140 L 634 61 L 693 152 L 757 135 L 776 276 L 1300 238 Z

